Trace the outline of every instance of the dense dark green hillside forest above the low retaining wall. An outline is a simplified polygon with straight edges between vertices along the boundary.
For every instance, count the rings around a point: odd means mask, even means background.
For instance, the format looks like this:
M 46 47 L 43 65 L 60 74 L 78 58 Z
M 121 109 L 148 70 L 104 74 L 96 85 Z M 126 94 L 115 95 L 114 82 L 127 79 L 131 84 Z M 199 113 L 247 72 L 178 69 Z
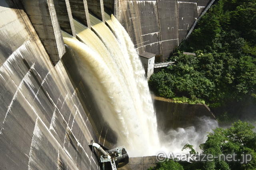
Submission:
M 180 50 L 170 58 L 175 65 L 150 77 L 156 95 L 203 99 L 211 106 L 254 95 L 256 0 L 219 0 Z

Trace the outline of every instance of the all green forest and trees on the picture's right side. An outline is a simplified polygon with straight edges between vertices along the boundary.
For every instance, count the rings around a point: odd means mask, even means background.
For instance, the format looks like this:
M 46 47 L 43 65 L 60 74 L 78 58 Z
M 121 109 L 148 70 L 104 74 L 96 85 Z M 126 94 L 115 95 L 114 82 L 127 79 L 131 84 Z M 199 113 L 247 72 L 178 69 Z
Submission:
M 184 55 L 183 52 L 194 55 Z M 177 48 L 165 69 L 154 73 L 148 81 L 150 90 L 174 102 L 205 103 L 211 109 L 242 103 L 256 102 L 256 0 L 218 0 L 198 22 L 186 42 Z M 229 113 L 230 114 L 230 113 Z M 216 128 L 200 144 L 200 154 L 237 153 L 252 155 L 248 164 L 239 161 L 176 162 L 166 160 L 151 170 L 255 170 L 256 132 L 246 122 L 227 117 L 222 112 L 218 121 L 235 122 L 229 128 Z M 238 114 L 242 114 L 239 113 Z M 193 146 L 183 149 L 196 154 Z

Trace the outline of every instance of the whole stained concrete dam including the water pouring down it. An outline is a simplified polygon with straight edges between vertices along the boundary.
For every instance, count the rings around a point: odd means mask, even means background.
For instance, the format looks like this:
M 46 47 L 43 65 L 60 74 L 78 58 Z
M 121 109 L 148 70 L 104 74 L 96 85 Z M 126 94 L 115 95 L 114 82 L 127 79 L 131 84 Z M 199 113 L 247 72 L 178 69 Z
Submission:
M 185 1 L 1 0 L 1 169 L 101 169 L 94 142 L 154 155 L 138 52 L 168 58 L 208 2 Z

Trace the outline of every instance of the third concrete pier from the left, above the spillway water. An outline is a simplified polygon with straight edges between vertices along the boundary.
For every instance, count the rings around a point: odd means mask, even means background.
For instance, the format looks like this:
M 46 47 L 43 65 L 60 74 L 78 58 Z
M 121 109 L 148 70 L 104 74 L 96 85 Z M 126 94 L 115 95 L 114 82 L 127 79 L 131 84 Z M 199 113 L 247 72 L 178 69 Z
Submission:
M 69 0 L 72 16 L 91 28 L 87 0 Z

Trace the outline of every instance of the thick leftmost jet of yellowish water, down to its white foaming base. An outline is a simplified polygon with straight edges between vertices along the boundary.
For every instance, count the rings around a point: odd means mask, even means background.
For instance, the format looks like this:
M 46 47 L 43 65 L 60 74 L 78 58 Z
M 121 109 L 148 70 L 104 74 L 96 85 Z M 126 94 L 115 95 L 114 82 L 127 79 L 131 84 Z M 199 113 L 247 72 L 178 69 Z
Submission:
M 84 65 L 84 69 L 80 71 L 86 73 L 83 78 L 89 84 L 92 93 L 97 96 L 96 100 L 104 113 L 104 119 L 117 132 L 118 145 L 124 144 L 130 156 L 154 155 L 156 152 L 150 149 L 151 146 L 155 146 L 154 141 L 158 140 L 157 135 L 153 136 L 156 134 L 156 121 L 150 121 L 155 119 L 154 112 L 151 112 L 152 115 L 144 113 L 142 103 L 129 103 L 135 97 L 140 99 L 140 89 L 137 89 L 137 95 L 125 95 L 132 91 L 120 85 L 116 75 L 96 51 L 78 40 L 64 38 L 64 42 L 79 56 L 77 64 Z M 148 97 L 150 98 L 150 95 Z M 137 110 L 138 108 L 140 110 Z M 154 129 L 155 133 L 150 129 Z

